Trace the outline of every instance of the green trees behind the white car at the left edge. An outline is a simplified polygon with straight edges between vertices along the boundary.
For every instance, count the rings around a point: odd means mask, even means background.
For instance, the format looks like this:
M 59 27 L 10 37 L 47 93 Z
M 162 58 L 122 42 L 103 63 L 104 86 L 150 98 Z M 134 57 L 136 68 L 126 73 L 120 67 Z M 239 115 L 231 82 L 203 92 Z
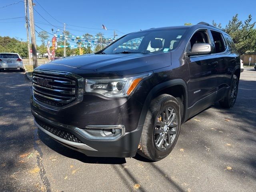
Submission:
M 0 36 L 0 52 L 14 52 L 21 57 L 28 57 L 28 46 L 26 42 L 21 42 L 15 38 Z

